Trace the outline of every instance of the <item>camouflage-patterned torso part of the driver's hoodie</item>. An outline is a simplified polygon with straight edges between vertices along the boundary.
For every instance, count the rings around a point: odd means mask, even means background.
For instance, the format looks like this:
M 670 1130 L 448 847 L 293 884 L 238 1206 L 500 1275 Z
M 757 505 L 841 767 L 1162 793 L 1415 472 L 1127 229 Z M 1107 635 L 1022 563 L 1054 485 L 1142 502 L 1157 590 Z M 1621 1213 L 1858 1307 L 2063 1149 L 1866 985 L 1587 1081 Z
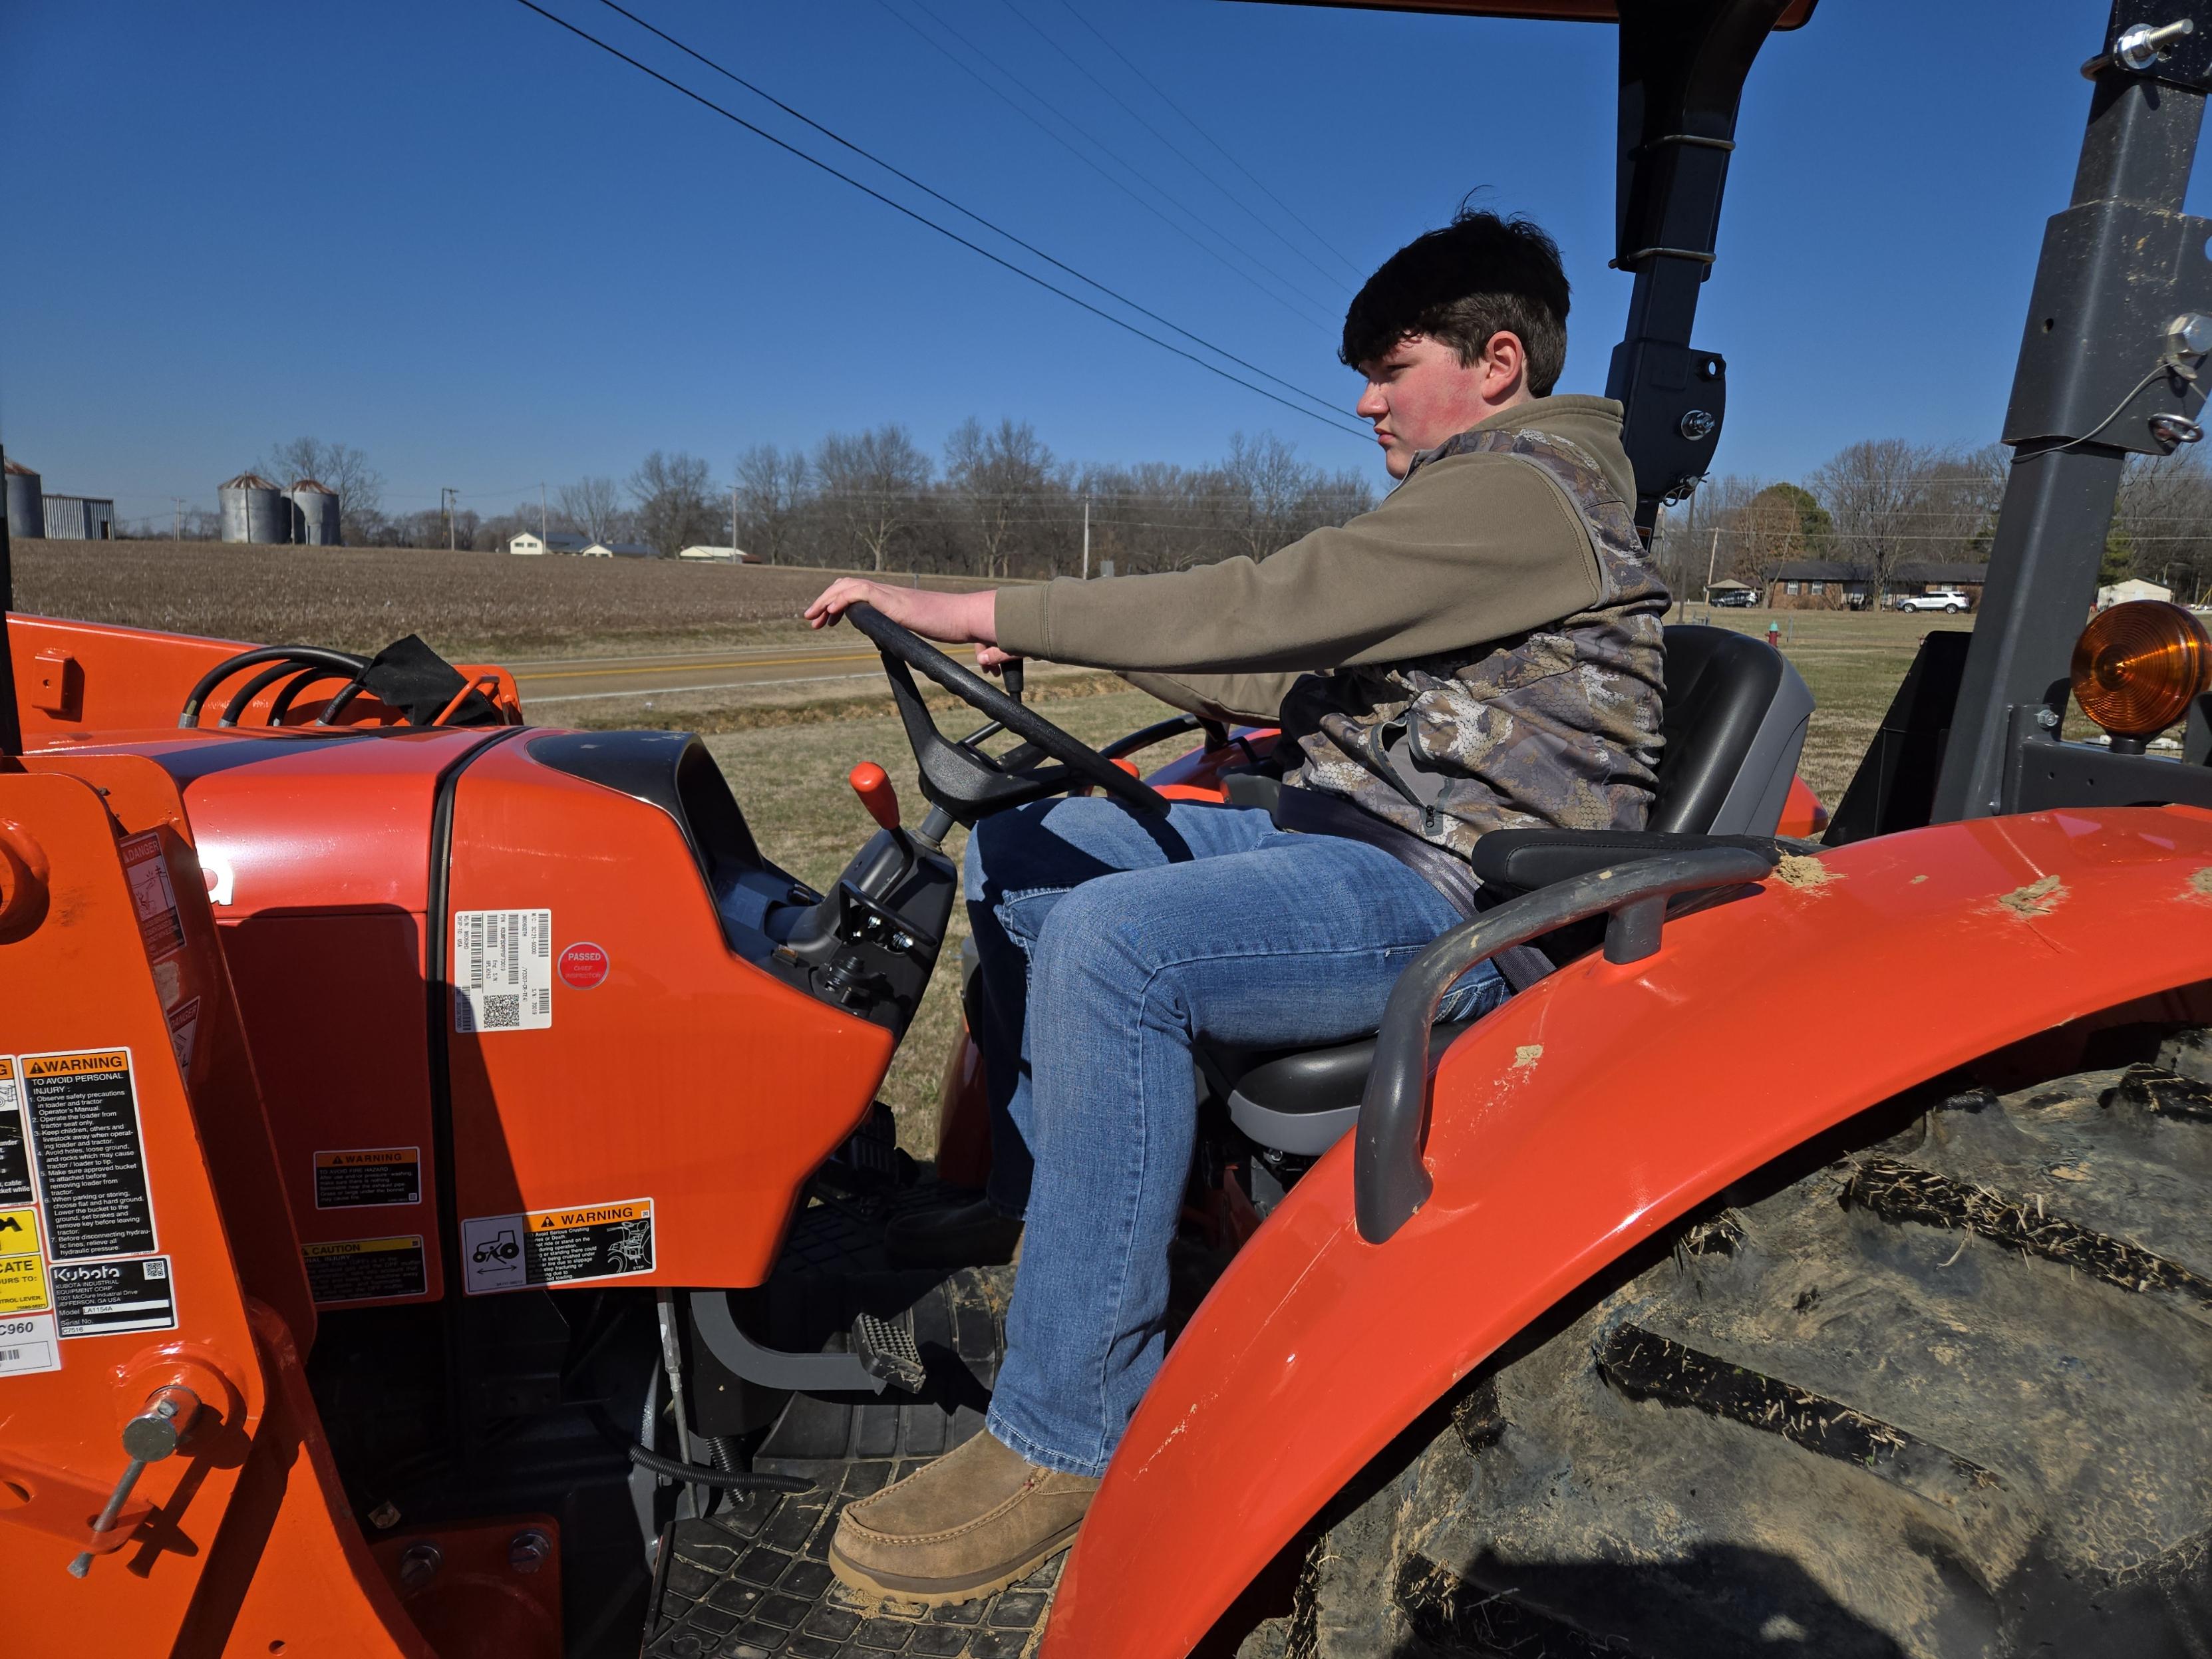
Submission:
M 1287 781 L 1462 856 L 1491 830 L 1641 830 L 1668 591 L 1635 515 L 1584 449 L 1542 431 L 1462 431 L 1413 467 L 1473 451 L 1517 456 L 1562 489 L 1597 549 L 1597 602 L 1511 639 L 1307 675 L 1283 699 L 1283 734 L 1305 754 Z

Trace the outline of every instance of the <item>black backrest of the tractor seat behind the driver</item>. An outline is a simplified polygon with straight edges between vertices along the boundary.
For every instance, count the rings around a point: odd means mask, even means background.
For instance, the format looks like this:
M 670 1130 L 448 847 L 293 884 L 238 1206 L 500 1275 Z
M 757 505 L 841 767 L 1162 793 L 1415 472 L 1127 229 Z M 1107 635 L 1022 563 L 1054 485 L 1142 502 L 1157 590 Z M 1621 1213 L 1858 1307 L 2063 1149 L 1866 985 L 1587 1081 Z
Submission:
M 1812 692 L 1761 639 L 1692 624 L 1666 630 L 1659 794 L 1648 830 L 1770 836 L 1796 776 Z

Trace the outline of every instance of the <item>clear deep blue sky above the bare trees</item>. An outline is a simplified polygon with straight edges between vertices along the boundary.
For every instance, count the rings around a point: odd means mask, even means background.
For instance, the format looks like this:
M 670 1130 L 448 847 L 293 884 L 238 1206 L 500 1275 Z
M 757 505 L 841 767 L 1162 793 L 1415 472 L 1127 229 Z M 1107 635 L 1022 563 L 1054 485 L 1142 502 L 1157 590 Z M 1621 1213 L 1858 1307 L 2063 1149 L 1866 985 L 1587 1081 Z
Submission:
M 1606 270 L 1606 29 L 1075 0 L 1095 35 L 1064 0 L 626 2 L 1347 407 L 1334 325 L 1354 270 L 1486 186 L 1557 234 L 1575 281 L 1564 387 L 1604 387 L 1628 299 Z M 801 135 L 597 0 L 544 4 Z M 1042 122 L 1088 131 L 1181 210 L 1141 208 L 1024 119 L 931 13 L 1042 100 Z M 1701 305 L 1699 345 L 1730 361 L 1723 471 L 1801 476 L 1867 436 L 1995 438 L 2104 18 L 2097 0 L 1825 0 L 1770 42 Z M 1232 431 L 1274 429 L 1385 482 L 1363 440 L 987 265 L 515 0 L 11 0 L 0 31 L 0 438 L 49 491 L 166 518 L 170 495 L 212 507 L 221 478 L 314 434 L 369 453 L 389 511 L 453 484 L 493 513 L 655 447 L 726 476 L 752 442 L 880 420 L 936 449 L 969 414 L 1029 418 L 1091 460 L 1203 462 Z

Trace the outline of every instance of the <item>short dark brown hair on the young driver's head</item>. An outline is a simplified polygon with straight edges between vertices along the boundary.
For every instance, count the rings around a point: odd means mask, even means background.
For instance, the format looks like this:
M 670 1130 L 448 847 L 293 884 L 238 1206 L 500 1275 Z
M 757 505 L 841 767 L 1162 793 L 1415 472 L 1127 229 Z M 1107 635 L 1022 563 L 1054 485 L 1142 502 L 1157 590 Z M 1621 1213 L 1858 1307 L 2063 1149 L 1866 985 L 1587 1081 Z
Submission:
M 1427 334 L 1473 365 L 1493 334 L 1513 334 L 1528 354 L 1528 392 L 1542 398 L 1566 369 L 1566 303 L 1559 243 L 1528 219 L 1460 208 L 1367 279 L 1345 312 L 1338 356 L 1358 367 Z

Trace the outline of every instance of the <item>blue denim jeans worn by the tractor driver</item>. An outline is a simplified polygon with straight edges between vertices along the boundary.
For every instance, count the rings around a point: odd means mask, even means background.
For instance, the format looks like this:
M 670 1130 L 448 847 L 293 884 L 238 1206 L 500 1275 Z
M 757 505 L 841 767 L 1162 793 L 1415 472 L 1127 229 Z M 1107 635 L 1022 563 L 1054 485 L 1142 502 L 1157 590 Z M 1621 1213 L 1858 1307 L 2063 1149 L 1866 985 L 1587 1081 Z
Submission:
M 1460 916 L 1356 841 L 1241 807 L 1177 803 L 1161 821 L 1088 796 L 984 818 L 967 894 L 991 1197 L 1029 1217 L 991 1433 L 1097 1475 L 1166 1349 L 1168 1243 L 1197 1144 L 1192 1042 L 1374 1031 L 1398 973 Z M 1484 964 L 1449 1011 L 1504 998 Z

